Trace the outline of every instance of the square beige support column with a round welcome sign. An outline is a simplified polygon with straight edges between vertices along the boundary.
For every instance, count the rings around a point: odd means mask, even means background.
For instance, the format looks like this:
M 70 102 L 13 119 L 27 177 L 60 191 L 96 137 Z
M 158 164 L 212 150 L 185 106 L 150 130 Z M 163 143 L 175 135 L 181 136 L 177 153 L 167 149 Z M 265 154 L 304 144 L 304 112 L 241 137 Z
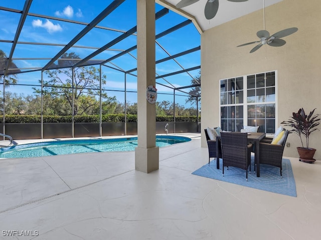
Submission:
M 137 133 L 135 169 L 159 168 L 156 147 L 156 107 L 148 103 L 146 88 L 155 85 L 155 1 L 137 0 Z

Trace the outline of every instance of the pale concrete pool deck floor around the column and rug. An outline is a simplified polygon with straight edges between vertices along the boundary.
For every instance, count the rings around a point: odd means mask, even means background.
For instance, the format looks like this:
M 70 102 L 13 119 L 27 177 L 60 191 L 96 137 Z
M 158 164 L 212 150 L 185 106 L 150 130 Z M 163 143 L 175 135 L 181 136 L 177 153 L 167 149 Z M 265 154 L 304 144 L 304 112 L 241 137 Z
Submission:
M 148 174 L 133 151 L 0 159 L 0 239 L 319 239 L 320 160 L 286 157 L 291 197 L 192 175 L 208 149 L 181 135 Z

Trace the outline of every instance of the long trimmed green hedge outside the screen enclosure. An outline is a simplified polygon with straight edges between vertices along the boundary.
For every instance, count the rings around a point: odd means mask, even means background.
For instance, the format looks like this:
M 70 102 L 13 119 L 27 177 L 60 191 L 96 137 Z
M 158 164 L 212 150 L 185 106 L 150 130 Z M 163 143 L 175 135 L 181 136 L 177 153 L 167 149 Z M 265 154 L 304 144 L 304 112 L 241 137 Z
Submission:
M 6 115 L 6 123 L 41 123 L 41 115 Z M 105 114 L 101 116 L 102 122 L 125 122 L 125 114 Z M 201 119 L 201 118 L 200 118 Z M 75 122 L 99 122 L 99 115 L 76 115 Z M 197 121 L 196 116 L 176 116 L 176 121 Z M 44 115 L 47 122 L 72 122 L 72 116 Z M 156 121 L 174 121 L 174 116 L 156 116 Z M 137 122 L 137 115 L 127 114 L 127 122 Z M 3 123 L 3 118 L 0 119 Z

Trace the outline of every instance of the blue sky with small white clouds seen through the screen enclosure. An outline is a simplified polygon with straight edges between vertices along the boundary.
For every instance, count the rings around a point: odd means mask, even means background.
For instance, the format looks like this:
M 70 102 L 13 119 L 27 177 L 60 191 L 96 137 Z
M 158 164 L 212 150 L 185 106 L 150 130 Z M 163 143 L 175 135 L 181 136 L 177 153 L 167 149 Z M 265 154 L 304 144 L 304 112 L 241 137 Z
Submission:
M 37 13 L 42 15 L 60 17 L 79 22 L 89 23 L 94 17 L 99 14 L 111 0 L 33 0 L 30 13 Z M 0 1 L 0 6 L 9 7 L 14 9 L 23 9 L 25 4 L 24 0 L 13 1 Z M 156 4 L 156 12 L 161 10 L 163 6 Z M 17 25 L 19 22 L 20 14 L 0 10 L 0 39 L 1 40 L 13 40 L 15 37 Z M 156 20 L 156 34 L 173 27 L 183 21 L 186 18 L 180 16 L 177 13 L 170 11 L 162 18 Z M 116 10 L 105 17 L 99 26 L 109 27 L 112 29 L 119 29 L 127 31 L 136 25 L 136 0 L 125 0 Z M 55 19 L 48 19 L 39 16 L 28 15 L 25 24 L 22 28 L 22 32 L 19 37 L 19 41 L 23 42 L 42 42 L 42 43 L 60 43 L 67 44 L 74 36 L 76 36 L 85 25 L 75 24 L 65 21 L 58 21 Z M 93 46 L 101 47 L 122 34 L 122 32 L 111 31 L 106 29 L 93 28 L 83 38 L 81 38 L 75 45 L 81 46 Z M 157 41 L 161 44 L 171 55 L 197 47 L 200 45 L 200 34 L 193 25 L 193 23 L 176 30 L 166 36 L 158 38 Z M 94 59 L 108 59 L 109 57 L 119 53 L 119 50 L 125 50 L 131 46 L 136 45 L 136 36 L 132 35 L 125 40 L 116 43 L 110 50 L 105 50 L 102 53 L 94 57 Z M 10 54 L 12 43 L 0 42 L 0 49 L 4 50 L 7 56 Z M 62 49 L 62 46 L 51 45 L 30 45 L 30 44 L 17 44 L 14 58 L 21 57 L 45 57 L 52 58 Z M 77 48 L 72 47 L 67 52 L 74 51 L 81 58 L 86 57 L 96 49 Z M 136 56 L 136 50 L 131 52 Z M 156 60 L 167 57 L 168 54 L 158 45 L 156 45 Z M 14 60 L 19 67 L 42 67 L 49 59 L 45 60 Z M 196 65 L 200 65 L 200 51 L 190 53 L 185 56 L 177 58 L 177 61 L 184 67 L 189 68 Z M 136 60 L 129 54 L 124 55 L 118 59 L 112 61 L 113 64 L 119 66 L 124 70 L 129 70 L 136 67 Z M 115 67 L 113 64 L 106 64 Z M 182 68 L 174 61 L 170 60 L 156 65 L 156 72 L 159 75 L 167 74 L 173 71 L 179 71 Z M 191 71 L 192 76 L 197 76 L 199 70 Z M 107 75 L 107 85 L 105 88 L 110 90 L 123 90 L 124 89 L 124 73 L 113 70 L 108 67 L 103 67 L 103 73 Z M 136 74 L 136 72 L 133 72 Z M 46 78 L 46 74 L 44 74 Z M 38 80 L 41 78 L 40 71 L 28 74 L 18 74 L 18 83 L 21 84 L 38 84 Z M 135 91 L 136 77 L 127 75 L 127 90 Z M 191 76 L 187 73 L 182 73 L 174 76 L 166 77 L 166 80 L 171 82 L 175 86 L 185 86 L 191 83 Z M 157 79 L 158 82 L 169 85 L 164 79 Z M 156 85 L 158 93 L 173 93 L 172 89 Z M 31 92 L 32 87 L 13 87 L 12 91 L 16 92 Z M 109 95 L 116 95 L 119 101 L 123 101 L 124 94 L 117 91 L 108 92 Z M 136 98 L 135 93 L 128 93 L 127 100 L 134 102 Z M 169 98 L 168 95 L 158 94 L 157 101 L 168 98 L 173 101 L 173 97 Z M 176 101 L 180 104 L 184 104 L 185 97 L 177 96 Z

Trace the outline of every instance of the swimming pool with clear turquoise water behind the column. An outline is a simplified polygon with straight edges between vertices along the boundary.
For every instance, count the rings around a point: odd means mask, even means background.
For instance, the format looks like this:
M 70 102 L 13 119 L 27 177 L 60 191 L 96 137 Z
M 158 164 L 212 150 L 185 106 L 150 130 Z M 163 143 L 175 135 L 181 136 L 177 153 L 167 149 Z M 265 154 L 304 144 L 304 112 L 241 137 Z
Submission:
M 190 140 L 191 138 L 185 136 L 157 135 L 156 146 L 163 147 Z M 133 151 L 136 146 L 137 137 L 56 140 L 4 147 L 0 149 L 0 158 L 52 156 L 84 152 Z

